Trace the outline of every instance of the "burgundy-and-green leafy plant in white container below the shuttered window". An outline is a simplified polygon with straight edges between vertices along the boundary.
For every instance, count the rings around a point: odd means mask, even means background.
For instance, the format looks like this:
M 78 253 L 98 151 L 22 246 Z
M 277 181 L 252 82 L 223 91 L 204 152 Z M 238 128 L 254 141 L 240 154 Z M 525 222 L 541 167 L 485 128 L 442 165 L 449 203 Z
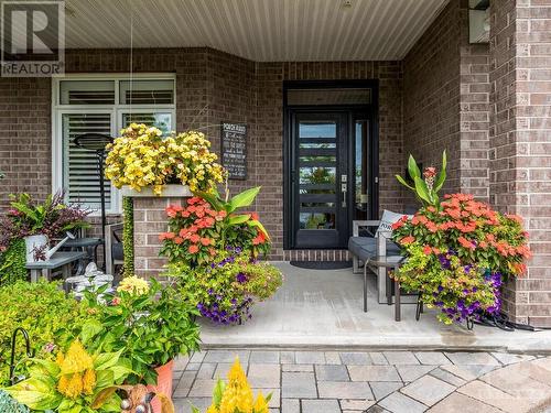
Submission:
M 86 217 L 90 210 L 66 204 L 63 192 L 48 195 L 43 203 L 24 193 L 10 198 L 10 209 L 0 221 L 0 248 L 7 249 L 14 239 L 23 238 L 26 261 L 45 259 L 53 238 L 89 227 Z

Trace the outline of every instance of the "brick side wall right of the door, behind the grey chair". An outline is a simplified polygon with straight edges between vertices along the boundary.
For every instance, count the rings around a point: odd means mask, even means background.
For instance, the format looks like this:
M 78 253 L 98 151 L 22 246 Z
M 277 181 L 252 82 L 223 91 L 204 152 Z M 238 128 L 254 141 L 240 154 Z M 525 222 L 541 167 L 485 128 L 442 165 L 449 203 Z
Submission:
M 403 145 L 423 166 L 440 166 L 445 149 L 443 191 L 487 202 L 489 50 L 468 43 L 467 8 L 452 0 L 403 61 Z

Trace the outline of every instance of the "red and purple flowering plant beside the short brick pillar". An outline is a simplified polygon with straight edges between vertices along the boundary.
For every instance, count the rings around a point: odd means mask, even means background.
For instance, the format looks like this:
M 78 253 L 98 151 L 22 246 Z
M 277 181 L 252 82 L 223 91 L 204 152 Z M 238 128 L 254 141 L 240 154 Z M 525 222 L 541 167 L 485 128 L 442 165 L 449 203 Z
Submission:
M 255 213 L 238 213 L 255 200 L 260 187 L 220 198 L 216 191 L 197 193 L 185 206 L 169 206 L 169 231 L 161 233 L 161 253 L 169 275 L 203 317 L 217 324 L 241 324 L 255 302 L 270 297 L 282 274 L 258 261 L 270 237 Z

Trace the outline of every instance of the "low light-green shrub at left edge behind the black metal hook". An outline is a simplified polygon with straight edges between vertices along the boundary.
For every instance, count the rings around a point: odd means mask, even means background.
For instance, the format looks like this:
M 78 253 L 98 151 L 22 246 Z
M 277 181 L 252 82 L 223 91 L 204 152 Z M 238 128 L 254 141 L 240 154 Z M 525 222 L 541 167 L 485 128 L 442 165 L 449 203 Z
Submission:
M 65 348 L 79 334 L 82 325 L 93 318 L 84 305 L 58 289 L 57 283 L 18 281 L 0 287 L 0 385 L 8 384 L 11 336 L 23 327 L 31 338 L 36 357 Z M 17 360 L 25 357 L 24 340 L 17 339 Z M 26 373 L 26 365 L 18 365 L 17 374 Z

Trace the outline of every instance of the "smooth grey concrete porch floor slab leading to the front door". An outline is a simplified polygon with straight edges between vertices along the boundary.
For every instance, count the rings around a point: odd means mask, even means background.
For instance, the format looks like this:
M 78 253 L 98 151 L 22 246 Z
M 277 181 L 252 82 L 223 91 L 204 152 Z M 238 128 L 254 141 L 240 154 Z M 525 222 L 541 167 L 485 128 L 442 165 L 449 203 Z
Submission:
M 346 270 L 305 270 L 277 262 L 283 286 L 252 309 L 241 326 L 215 326 L 202 320 L 204 348 L 412 348 L 479 349 L 551 352 L 551 330 L 503 332 L 475 325 L 445 326 L 425 308 L 415 322 L 415 305 L 402 304 L 402 320 L 395 307 L 378 304 L 375 275 L 363 312 L 363 276 Z

